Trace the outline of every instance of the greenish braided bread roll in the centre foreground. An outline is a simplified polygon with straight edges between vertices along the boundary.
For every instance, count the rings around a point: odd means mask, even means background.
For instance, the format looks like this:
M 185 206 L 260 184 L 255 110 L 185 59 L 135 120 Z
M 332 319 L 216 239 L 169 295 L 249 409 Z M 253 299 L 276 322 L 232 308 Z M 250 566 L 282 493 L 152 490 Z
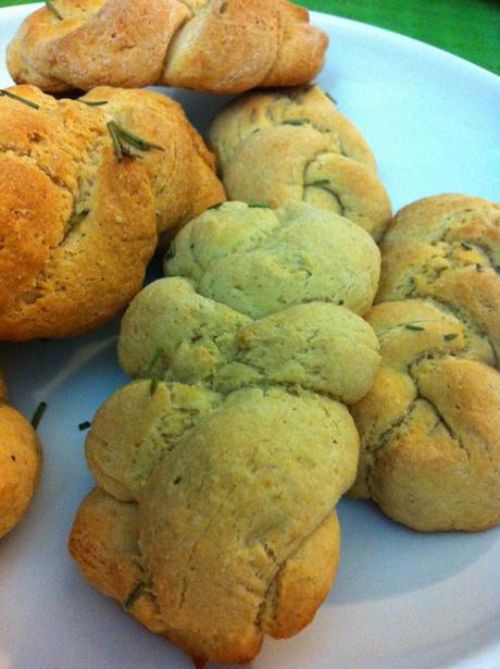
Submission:
M 343 402 L 378 367 L 357 315 L 378 257 L 335 214 L 228 202 L 178 234 L 171 276 L 124 317 L 118 357 L 139 380 L 93 420 L 99 487 L 70 550 L 200 665 L 251 660 L 264 635 L 307 625 L 330 589 L 335 506 L 359 445 Z

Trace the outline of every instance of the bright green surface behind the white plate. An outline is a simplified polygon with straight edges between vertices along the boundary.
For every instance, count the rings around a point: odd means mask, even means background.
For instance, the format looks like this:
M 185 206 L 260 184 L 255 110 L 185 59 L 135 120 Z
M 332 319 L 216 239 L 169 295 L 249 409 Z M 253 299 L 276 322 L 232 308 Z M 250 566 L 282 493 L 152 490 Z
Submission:
M 414 37 L 500 74 L 500 0 L 296 1 Z M 0 7 L 26 2 L 0 0 Z

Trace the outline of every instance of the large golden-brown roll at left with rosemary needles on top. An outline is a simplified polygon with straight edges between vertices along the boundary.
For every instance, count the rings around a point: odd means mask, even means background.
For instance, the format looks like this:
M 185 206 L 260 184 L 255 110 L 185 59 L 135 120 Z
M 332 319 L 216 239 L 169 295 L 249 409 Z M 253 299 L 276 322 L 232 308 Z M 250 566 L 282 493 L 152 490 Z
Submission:
M 0 98 L 0 338 L 79 334 L 140 290 L 158 233 L 224 190 L 201 138 L 164 96 L 97 88 L 54 100 L 29 86 L 10 94 L 37 108 Z M 160 148 L 127 145 L 134 154 L 118 161 L 111 121 Z

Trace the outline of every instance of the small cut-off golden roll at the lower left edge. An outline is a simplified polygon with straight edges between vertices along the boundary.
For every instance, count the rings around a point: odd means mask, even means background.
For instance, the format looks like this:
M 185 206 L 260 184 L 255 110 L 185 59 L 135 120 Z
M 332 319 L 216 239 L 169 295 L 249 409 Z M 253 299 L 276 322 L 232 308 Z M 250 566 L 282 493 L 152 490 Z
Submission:
M 28 421 L 8 404 L 0 372 L 0 538 L 26 512 L 41 470 L 41 446 Z

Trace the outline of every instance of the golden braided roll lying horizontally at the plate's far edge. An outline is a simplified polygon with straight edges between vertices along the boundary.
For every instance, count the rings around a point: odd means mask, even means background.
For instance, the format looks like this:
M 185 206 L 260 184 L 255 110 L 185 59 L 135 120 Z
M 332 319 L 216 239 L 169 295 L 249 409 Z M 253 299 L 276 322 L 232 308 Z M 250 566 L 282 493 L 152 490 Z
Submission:
M 295 86 L 316 76 L 328 46 L 308 11 L 286 0 L 55 0 L 53 7 L 29 15 L 7 53 L 14 82 L 50 92 Z

